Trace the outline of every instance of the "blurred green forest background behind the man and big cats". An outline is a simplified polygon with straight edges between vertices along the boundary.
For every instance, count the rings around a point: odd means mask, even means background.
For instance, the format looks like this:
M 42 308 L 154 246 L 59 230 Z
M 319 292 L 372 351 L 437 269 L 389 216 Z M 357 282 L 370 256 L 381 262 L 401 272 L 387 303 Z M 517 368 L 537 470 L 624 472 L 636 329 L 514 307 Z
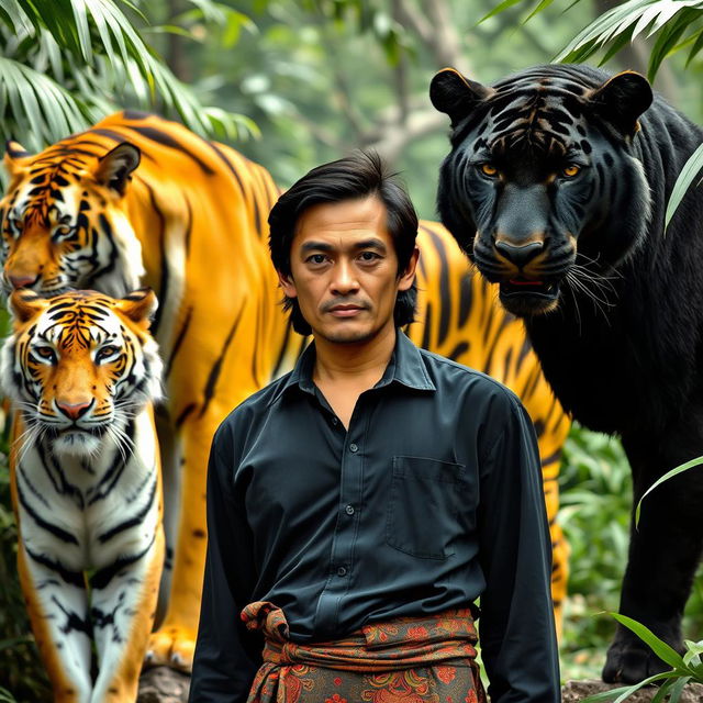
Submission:
M 402 172 L 421 216 L 436 219 L 448 125 L 427 98 L 433 74 L 456 66 L 492 82 L 548 63 L 617 4 L 512 0 L 481 21 L 496 2 L 0 0 L 0 136 L 37 149 L 119 107 L 147 108 L 231 143 L 283 188 L 322 161 L 373 147 Z M 123 15 L 96 20 L 91 5 L 114 5 Z M 695 22 L 691 15 L 689 25 Z M 646 74 L 652 46 L 641 36 L 621 43 L 605 67 Z M 687 53 L 678 52 L 655 80 L 696 122 L 703 122 L 702 67 L 696 58 L 687 65 Z M 614 631 L 603 611 L 617 610 L 627 551 L 629 470 L 618 443 L 574 428 L 561 490 L 560 520 L 572 549 L 562 678 L 598 678 Z M 0 687 L 34 703 L 48 698 L 16 584 L 9 504 L 3 461 Z M 700 639 L 700 579 L 694 590 L 685 634 Z

